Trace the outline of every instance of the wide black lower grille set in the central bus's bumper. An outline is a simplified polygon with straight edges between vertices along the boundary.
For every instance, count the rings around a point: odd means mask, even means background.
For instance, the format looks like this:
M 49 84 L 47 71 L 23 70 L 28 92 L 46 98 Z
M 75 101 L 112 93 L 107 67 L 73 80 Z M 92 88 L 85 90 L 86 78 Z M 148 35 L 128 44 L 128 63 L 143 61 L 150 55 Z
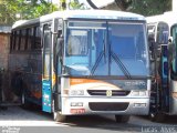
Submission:
M 128 102 L 108 103 L 108 102 L 90 102 L 88 106 L 92 111 L 125 111 Z

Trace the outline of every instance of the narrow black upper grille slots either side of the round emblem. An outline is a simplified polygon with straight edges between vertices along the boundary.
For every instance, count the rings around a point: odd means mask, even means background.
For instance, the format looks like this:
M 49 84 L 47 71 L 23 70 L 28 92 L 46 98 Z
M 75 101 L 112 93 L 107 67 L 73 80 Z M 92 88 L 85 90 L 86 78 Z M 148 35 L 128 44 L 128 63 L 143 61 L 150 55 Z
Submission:
M 90 95 L 103 95 L 106 96 L 106 90 L 87 90 Z M 112 90 L 112 96 L 126 96 L 131 91 Z

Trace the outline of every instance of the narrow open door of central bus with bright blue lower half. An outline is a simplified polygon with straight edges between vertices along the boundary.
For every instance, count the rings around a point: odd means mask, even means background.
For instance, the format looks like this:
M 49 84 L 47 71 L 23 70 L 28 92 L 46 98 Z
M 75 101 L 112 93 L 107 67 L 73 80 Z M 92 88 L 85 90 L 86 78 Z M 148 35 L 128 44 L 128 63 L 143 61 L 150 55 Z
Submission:
M 43 24 L 43 52 L 42 52 L 42 111 L 52 112 L 52 23 Z

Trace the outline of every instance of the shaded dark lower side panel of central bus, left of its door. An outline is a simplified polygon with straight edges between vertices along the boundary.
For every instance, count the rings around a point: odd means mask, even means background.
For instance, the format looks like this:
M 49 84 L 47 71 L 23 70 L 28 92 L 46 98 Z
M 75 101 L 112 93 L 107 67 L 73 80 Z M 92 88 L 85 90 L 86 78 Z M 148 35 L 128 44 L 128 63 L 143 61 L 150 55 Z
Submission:
M 25 99 L 41 105 L 42 60 L 40 53 L 9 55 L 9 72 L 12 91 L 20 99 L 20 90 L 24 89 Z M 18 79 L 19 75 L 19 79 Z

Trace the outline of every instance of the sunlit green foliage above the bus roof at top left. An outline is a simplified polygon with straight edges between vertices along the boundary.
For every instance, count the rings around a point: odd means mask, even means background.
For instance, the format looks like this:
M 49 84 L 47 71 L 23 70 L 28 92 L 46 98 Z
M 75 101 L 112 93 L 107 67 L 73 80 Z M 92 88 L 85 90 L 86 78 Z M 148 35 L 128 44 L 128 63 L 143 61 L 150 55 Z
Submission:
M 33 19 L 58 10 L 46 0 L 0 0 L 0 23 L 13 23 L 19 19 Z

